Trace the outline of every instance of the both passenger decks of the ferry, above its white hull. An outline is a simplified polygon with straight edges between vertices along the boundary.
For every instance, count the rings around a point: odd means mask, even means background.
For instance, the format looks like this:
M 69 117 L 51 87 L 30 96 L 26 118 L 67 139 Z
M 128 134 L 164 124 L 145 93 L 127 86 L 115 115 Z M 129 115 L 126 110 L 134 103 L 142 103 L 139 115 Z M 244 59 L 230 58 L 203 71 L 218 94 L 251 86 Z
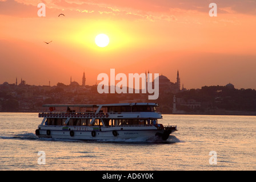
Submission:
M 157 104 L 106 104 L 106 105 L 43 105 L 49 110 L 39 113 L 42 123 L 53 126 L 130 126 L 155 125 L 157 118 L 138 117 L 139 113 L 157 113 Z M 56 109 L 57 108 L 57 109 Z M 111 116 L 111 117 L 109 117 Z

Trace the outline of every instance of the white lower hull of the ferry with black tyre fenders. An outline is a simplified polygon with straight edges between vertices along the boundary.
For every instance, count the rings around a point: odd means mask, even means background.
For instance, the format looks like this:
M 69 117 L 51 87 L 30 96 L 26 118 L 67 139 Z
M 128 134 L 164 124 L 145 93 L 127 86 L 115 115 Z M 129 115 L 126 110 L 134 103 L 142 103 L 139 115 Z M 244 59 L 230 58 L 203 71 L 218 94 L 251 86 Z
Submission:
M 146 129 L 123 129 L 123 127 L 111 127 L 93 130 L 90 127 L 63 127 L 39 126 L 36 134 L 39 138 L 74 139 L 74 140 L 123 140 L 143 138 L 145 140 L 166 140 L 173 130 L 158 130 L 154 126 L 145 126 Z M 94 127 L 94 129 L 97 127 Z

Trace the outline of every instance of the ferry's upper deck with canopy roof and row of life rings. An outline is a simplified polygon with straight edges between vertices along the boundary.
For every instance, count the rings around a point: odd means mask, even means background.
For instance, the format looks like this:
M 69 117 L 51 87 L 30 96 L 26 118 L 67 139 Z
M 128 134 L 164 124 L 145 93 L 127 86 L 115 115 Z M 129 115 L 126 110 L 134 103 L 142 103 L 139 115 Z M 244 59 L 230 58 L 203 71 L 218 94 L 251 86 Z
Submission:
M 156 103 L 122 103 L 95 105 L 43 105 L 49 110 L 39 113 L 47 118 L 162 118 Z M 58 108 L 59 107 L 59 108 Z M 57 109 L 56 109 L 57 108 Z

